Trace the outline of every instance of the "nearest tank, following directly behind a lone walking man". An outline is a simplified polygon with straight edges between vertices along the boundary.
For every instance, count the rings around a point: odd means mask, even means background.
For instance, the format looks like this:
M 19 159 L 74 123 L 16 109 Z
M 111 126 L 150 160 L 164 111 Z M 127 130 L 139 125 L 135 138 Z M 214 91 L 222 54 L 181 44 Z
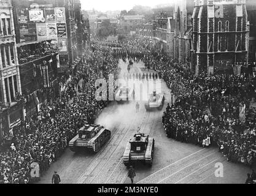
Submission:
M 123 164 L 129 167 L 133 162 L 141 161 L 143 164 L 151 166 L 154 148 L 154 138 L 145 134 L 134 134 L 123 153 Z

